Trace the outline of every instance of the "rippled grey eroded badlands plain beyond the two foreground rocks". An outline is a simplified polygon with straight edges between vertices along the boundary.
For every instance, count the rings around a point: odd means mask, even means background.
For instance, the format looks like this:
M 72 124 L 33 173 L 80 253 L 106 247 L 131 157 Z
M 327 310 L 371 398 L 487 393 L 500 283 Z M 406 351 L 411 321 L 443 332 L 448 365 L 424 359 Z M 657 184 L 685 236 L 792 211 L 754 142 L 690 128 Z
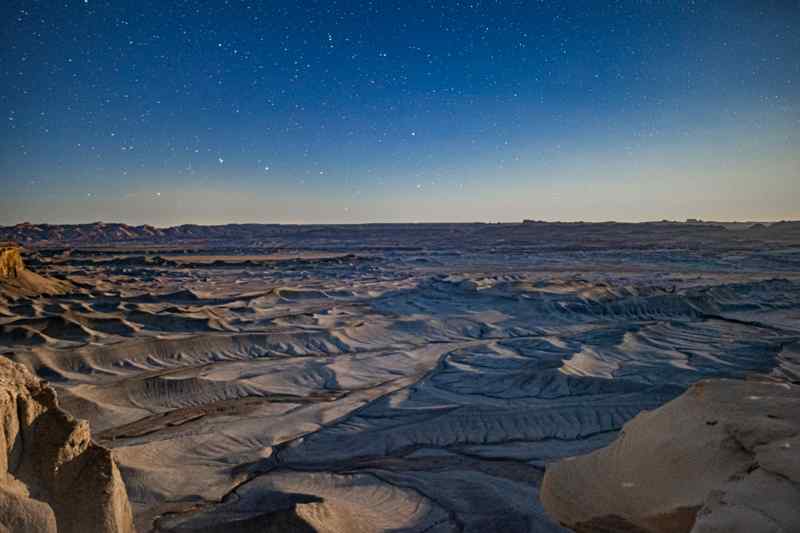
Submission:
M 143 231 L 4 228 L 71 289 L 0 300 L 142 532 L 561 531 L 546 464 L 701 378 L 800 377 L 796 223 Z

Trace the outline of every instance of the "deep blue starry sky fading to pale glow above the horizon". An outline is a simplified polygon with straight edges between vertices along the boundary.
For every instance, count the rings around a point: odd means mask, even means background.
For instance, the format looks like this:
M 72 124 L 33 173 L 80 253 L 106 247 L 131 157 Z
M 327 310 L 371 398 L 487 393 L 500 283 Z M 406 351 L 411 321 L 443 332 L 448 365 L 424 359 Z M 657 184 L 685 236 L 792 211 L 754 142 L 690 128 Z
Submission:
M 800 1 L 4 0 L 0 224 L 800 218 Z

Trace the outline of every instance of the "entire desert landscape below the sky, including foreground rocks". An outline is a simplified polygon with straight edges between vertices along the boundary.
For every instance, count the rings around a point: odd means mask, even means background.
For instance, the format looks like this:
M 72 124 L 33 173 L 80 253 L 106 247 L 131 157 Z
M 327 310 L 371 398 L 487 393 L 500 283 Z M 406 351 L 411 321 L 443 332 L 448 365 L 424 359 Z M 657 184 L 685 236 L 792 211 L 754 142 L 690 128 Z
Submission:
M 800 223 L 0 240 L 0 531 L 800 531 Z

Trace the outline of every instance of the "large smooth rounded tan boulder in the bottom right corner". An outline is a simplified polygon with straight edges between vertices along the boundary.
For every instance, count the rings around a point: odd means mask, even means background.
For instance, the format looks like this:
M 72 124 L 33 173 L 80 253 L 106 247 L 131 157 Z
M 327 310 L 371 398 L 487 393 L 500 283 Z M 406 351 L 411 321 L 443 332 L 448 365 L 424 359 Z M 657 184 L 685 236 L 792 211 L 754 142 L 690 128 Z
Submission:
M 582 533 L 800 531 L 800 386 L 699 382 L 548 467 L 540 496 Z

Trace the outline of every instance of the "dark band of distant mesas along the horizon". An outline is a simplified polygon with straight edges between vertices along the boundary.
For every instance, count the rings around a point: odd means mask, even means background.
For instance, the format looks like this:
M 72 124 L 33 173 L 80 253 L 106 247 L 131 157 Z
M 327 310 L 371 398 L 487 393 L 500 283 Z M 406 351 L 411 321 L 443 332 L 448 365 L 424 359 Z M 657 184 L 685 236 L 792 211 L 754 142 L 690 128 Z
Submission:
M 169 244 L 186 246 L 230 247 L 237 246 L 330 246 L 335 241 L 342 248 L 383 245 L 389 228 L 402 228 L 407 235 L 426 245 L 442 246 L 453 242 L 498 242 L 528 239 L 540 242 L 542 233 L 563 239 L 569 237 L 577 244 L 586 238 L 612 237 L 625 244 L 631 237 L 651 239 L 659 245 L 670 240 L 684 246 L 685 239 L 743 239 L 757 236 L 769 240 L 786 240 L 800 237 L 800 222 L 765 223 L 758 233 L 729 231 L 747 229 L 753 223 L 711 222 L 696 218 L 686 222 L 660 220 L 652 222 L 546 222 L 525 219 L 522 223 L 419 223 L 419 224 L 349 224 L 349 225 L 291 225 L 291 224 L 223 224 L 202 226 L 184 224 L 158 228 L 151 225 L 131 226 L 122 223 L 95 222 L 91 224 L 31 224 L 0 226 L 0 241 L 10 240 L 28 248 L 100 247 L 119 244 Z M 556 235 L 556 233 L 558 235 Z M 454 239 L 462 236 L 464 239 Z M 335 237 L 335 239 L 334 239 Z M 397 243 L 393 242 L 393 246 Z M 562 241 L 563 242 L 563 241 Z M 610 241 L 609 241 L 610 242 Z

